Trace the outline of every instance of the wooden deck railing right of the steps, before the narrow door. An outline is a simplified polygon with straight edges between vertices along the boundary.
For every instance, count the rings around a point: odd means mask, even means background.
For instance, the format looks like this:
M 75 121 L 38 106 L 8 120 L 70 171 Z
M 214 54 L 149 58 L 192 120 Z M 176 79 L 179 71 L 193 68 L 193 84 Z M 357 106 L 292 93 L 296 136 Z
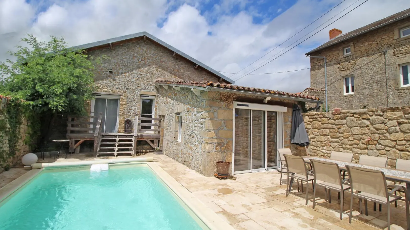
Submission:
M 150 121 L 151 123 L 142 121 Z M 159 118 L 159 115 L 139 113 L 135 116 L 134 123 L 134 136 L 142 133 L 159 134 L 161 132 L 161 118 Z

